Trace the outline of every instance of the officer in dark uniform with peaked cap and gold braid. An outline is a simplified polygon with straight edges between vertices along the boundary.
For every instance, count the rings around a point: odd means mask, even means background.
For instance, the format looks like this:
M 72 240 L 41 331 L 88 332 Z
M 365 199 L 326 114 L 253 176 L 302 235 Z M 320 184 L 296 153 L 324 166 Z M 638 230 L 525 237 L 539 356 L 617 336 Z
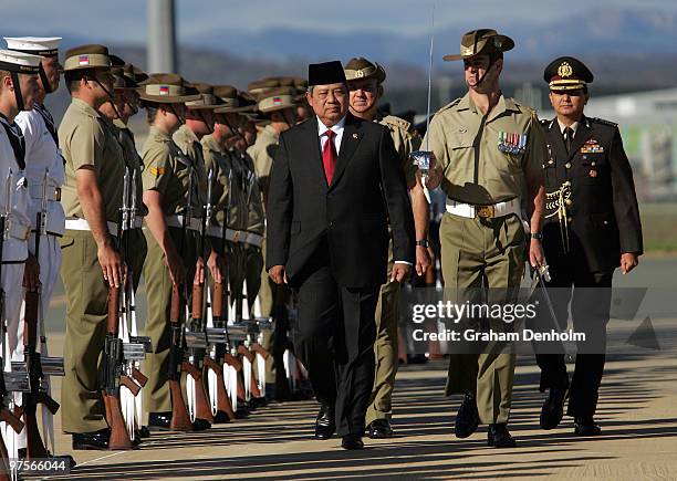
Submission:
M 596 436 L 593 417 L 604 372 L 606 323 L 614 270 L 632 271 L 643 252 L 642 224 L 633 171 L 616 124 L 589 118 L 583 109 L 593 74 L 579 60 L 563 56 L 545 67 L 550 102 L 556 113 L 542 121 L 549 157 L 545 178 L 543 247 L 552 276 L 555 315 L 565 326 L 569 305 L 575 332 L 584 332 L 569 383 L 563 354 L 539 354 L 541 391 L 550 389 L 541 427 L 552 429 L 567 415 L 575 433 Z M 573 290 L 572 290 L 573 286 Z

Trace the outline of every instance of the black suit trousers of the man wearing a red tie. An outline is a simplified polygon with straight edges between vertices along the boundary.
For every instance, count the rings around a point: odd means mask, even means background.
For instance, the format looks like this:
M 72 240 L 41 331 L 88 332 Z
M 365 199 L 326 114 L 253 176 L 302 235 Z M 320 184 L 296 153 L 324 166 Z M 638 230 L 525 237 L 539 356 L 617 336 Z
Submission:
M 336 432 L 364 433 L 374 385 L 378 286 L 344 287 L 321 245 L 299 275 L 294 349 L 320 402 L 334 405 Z

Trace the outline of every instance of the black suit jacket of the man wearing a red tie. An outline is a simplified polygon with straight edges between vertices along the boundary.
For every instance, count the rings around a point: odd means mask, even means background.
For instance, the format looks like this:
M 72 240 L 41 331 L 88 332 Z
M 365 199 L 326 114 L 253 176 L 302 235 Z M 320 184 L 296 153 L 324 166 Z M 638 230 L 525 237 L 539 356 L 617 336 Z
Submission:
M 332 185 L 320 151 L 317 118 L 280 136 L 268 195 L 265 269 L 284 265 L 290 285 L 319 245 L 329 244 L 341 286 L 386 280 L 388 222 L 394 259 L 414 262 L 414 219 L 388 130 L 347 115 Z

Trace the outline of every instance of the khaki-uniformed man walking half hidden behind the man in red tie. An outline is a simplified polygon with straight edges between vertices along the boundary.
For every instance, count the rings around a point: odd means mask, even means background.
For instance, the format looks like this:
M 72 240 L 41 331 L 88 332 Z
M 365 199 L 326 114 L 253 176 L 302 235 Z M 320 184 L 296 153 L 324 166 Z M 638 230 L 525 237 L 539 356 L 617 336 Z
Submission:
M 430 265 L 427 251 L 429 209 L 420 178 L 416 176 L 417 167 L 409 158 L 413 150 L 418 150 L 420 136 L 407 121 L 394 115 L 383 115 L 378 112 L 378 101 L 383 96 L 383 82 L 386 79 L 385 70 L 379 64 L 363 57 L 356 57 L 348 61 L 344 71 L 348 81 L 351 114 L 385 125 L 393 137 L 412 197 L 417 239 L 416 272 L 418 275 L 423 275 Z M 393 240 L 390 239 L 388 279 L 390 279 L 393 264 Z M 376 373 L 372 398 L 366 412 L 367 433 L 371 438 L 389 438 L 393 436 L 390 427 L 392 398 L 395 375 L 399 364 L 397 357 L 398 304 L 399 282 L 388 281 L 381 286 L 378 303 L 376 304 L 376 342 L 374 343 Z

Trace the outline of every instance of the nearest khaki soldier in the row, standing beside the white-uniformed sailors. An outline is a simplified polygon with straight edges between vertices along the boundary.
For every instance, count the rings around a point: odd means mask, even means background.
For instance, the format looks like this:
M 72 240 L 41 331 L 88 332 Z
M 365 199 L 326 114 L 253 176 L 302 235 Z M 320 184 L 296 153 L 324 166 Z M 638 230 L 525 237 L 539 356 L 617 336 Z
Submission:
M 113 91 L 108 50 L 83 45 L 66 52 L 65 83 L 72 102 L 59 144 L 65 160 L 61 279 L 66 293 L 65 377 L 61 412 L 73 449 L 106 449 L 108 426 L 98 390 L 108 284 L 119 286 L 123 264 L 115 249 L 122 205 L 123 151 L 97 108 Z

